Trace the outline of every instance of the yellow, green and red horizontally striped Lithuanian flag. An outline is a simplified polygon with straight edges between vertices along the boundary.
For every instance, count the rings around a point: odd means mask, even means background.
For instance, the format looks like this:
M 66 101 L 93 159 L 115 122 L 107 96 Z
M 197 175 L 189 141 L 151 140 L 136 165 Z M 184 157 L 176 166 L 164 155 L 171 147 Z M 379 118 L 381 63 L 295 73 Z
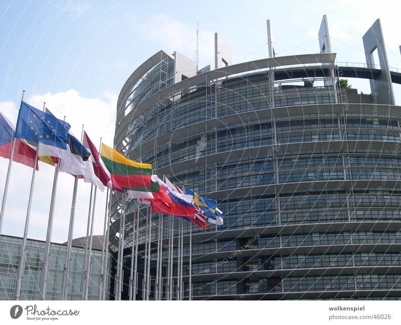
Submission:
M 159 185 L 151 181 L 152 165 L 137 163 L 102 144 L 100 156 L 110 172 L 113 189 L 117 191 L 158 192 Z

